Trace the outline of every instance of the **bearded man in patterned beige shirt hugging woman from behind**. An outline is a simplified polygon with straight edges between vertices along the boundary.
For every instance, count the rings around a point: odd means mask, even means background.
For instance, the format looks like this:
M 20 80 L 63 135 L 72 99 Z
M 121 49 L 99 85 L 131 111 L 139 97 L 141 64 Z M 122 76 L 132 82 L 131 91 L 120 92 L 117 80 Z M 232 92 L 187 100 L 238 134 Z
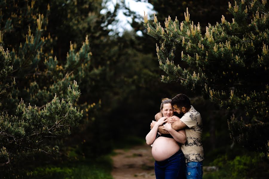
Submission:
M 172 105 L 174 111 L 178 114 L 184 114 L 180 120 L 175 118 L 168 118 L 167 122 L 172 123 L 172 128 L 176 131 L 185 129 L 187 141 L 181 145 L 181 150 L 185 156 L 186 162 L 186 178 L 203 178 L 203 160 L 204 150 L 202 145 L 202 119 L 199 112 L 197 112 L 191 105 L 189 98 L 184 94 L 178 94 L 172 98 Z M 155 119 L 158 121 L 162 117 L 162 114 L 155 115 Z M 151 124 L 151 128 L 155 122 Z M 163 126 L 159 126 L 159 132 L 162 134 L 169 134 L 164 130 Z

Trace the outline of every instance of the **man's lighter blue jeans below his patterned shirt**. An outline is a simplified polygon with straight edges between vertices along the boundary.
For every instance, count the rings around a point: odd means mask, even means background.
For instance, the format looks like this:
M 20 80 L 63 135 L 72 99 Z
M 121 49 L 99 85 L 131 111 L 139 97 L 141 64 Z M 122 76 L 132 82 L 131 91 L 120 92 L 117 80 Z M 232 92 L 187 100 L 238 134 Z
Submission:
M 185 173 L 186 179 L 202 179 L 203 162 L 187 162 Z

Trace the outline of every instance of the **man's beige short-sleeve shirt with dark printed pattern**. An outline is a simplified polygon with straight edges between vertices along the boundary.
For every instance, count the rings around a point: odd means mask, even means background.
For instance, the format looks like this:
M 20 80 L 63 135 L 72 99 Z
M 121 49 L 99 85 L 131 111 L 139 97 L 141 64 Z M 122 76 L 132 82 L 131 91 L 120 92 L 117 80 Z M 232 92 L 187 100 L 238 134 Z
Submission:
M 182 144 L 186 162 L 200 162 L 204 160 L 204 149 L 202 145 L 203 123 L 201 115 L 193 106 L 180 120 L 187 125 L 185 128 L 187 141 Z

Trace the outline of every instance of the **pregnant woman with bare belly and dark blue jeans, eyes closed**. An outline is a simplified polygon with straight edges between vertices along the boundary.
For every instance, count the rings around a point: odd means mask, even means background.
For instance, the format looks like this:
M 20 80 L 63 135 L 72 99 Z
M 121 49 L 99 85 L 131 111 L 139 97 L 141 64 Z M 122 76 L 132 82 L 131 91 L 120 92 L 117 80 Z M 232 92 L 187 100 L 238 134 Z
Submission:
M 163 117 L 159 119 L 146 136 L 146 143 L 152 144 L 152 156 L 155 159 L 156 179 L 185 178 L 185 159 L 180 149 L 180 143 L 186 142 L 184 130 L 175 131 L 170 123 L 163 125 L 170 134 L 158 133 L 158 127 L 167 122 L 167 118 L 173 116 L 174 109 L 171 99 L 163 99 L 161 103 Z

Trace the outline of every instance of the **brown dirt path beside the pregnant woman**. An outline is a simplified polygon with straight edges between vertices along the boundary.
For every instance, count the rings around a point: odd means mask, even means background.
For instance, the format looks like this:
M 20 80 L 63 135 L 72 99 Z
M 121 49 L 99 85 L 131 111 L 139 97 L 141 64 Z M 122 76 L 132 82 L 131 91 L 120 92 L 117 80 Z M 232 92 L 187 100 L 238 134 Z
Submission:
M 132 149 L 116 149 L 112 156 L 114 179 L 155 179 L 154 162 L 149 145 Z

